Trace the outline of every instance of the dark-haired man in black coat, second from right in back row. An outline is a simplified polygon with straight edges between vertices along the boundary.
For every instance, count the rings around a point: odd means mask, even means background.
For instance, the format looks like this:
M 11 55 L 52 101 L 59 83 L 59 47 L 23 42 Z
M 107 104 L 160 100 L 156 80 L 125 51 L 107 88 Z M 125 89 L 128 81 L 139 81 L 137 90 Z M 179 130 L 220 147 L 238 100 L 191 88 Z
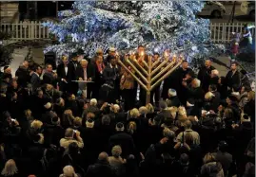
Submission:
M 205 65 L 199 70 L 198 80 L 201 80 L 201 85 L 205 92 L 208 90 L 211 71 L 214 69 L 215 68 L 211 65 L 210 60 L 206 60 Z

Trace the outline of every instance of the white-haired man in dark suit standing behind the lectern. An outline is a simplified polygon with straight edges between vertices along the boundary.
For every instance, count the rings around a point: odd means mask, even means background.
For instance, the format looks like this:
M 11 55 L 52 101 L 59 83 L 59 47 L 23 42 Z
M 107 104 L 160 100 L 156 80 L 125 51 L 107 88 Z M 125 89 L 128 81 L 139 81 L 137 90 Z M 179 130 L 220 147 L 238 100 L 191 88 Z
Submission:
M 92 64 L 90 64 L 87 60 L 82 60 L 81 65 L 77 68 L 77 76 L 78 80 L 85 81 L 94 81 L 95 79 L 95 70 Z M 93 91 L 93 82 L 87 83 L 87 97 L 90 98 Z

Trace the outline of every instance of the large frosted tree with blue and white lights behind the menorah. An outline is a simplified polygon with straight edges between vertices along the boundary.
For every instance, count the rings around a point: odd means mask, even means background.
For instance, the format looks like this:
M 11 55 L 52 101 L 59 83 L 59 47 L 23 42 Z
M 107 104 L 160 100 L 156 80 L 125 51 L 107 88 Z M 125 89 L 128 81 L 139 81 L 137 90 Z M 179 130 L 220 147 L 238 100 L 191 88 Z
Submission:
M 62 55 L 83 48 L 93 56 L 99 47 L 128 52 L 143 44 L 149 52 L 171 49 L 188 62 L 203 59 L 220 48 L 210 43 L 209 20 L 196 18 L 203 7 L 200 1 L 75 2 L 59 12 L 58 23 L 44 24 L 59 41 L 45 52 Z

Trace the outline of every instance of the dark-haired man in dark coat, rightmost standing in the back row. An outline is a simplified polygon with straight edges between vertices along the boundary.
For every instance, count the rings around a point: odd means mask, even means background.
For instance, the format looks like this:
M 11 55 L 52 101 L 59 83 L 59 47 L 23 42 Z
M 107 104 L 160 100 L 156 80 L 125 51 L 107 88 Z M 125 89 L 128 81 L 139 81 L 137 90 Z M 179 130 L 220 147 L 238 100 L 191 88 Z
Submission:
M 241 76 L 237 69 L 237 62 L 232 62 L 230 70 L 226 74 L 227 90 L 232 90 L 233 85 L 241 85 Z

